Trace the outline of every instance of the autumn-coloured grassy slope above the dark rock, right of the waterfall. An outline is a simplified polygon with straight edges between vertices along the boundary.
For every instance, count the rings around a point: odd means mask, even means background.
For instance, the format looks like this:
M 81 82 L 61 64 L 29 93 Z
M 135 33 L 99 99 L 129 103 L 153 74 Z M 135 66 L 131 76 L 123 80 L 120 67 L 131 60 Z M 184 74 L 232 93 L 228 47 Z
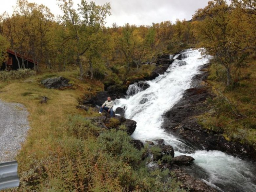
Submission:
M 246 65 L 247 67 L 242 68 L 240 72 L 241 76 L 245 78 L 240 80 L 233 89 L 228 89 L 225 86 L 225 70 L 219 65 L 211 65 L 207 82 L 218 97 L 209 101 L 214 110 L 203 114 L 201 123 L 207 129 L 223 133 L 227 140 L 248 143 L 256 148 L 255 58 L 252 56 L 247 58 Z M 218 71 L 217 74 L 216 71 Z M 231 104 L 224 101 L 221 93 Z M 233 111 L 244 115 L 244 118 L 238 117 Z

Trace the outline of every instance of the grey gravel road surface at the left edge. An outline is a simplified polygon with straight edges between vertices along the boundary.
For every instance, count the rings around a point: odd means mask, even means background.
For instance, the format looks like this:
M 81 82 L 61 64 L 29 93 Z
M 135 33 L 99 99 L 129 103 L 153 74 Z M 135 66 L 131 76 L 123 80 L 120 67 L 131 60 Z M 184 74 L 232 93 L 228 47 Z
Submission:
M 0 163 L 15 160 L 30 128 L 24 105 L 0 100 Z

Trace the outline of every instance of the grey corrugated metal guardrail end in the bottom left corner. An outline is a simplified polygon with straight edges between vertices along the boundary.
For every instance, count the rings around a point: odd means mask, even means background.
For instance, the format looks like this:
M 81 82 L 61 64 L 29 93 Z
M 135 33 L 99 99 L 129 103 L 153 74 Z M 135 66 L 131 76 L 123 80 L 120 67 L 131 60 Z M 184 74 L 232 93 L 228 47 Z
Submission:
M 0 190 L 19 186 L 17 169 L 17 161 L 0 163 Z

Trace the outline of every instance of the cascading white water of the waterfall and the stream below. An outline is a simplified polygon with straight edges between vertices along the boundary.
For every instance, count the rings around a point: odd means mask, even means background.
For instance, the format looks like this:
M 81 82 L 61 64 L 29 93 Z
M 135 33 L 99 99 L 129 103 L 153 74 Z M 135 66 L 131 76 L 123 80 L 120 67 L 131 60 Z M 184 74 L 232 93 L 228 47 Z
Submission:
M 175 60 L 164 75 L 145 81 L 150 87 L 144 91 L 138 88 L 138 84 L 130 85 L 127 93 L 133 92 L 135 95 L 115 100 L 114 110 L 124 107 L 125 117 L 137 122 L 132 135 L 134 139 L 142 142 L 164 139 L 165 144 L 174 147 L 175 156 L 192 156 L 194 163 L 207 173 L 207 177 L 202 179 L 209 185 L 226 192 L 255 192 L 255 165 L 220 151 L 194 151 L 179 138 L 161 129 L 163 114 L 181 99 L 184 90 L 191 88 L 192 77 L 200 73 L 200 66 L 209 61 L 209 56 L 202 57 L 199 50 L 191 49 L 182 51 L 182 55 L 171 55 L 170 58 Z

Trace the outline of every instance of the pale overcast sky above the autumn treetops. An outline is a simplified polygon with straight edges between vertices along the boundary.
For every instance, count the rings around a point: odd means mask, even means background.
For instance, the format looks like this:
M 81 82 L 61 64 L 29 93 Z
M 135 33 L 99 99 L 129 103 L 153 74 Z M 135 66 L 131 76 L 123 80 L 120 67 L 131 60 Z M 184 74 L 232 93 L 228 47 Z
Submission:
M 37 4 L 44 4 L 54 15 L 61 14 L 56 0 L 28 0 Z M 204 8 L 208 0 L 93 0 L 96 5 L 107 2 L 111 5 L 111 16 L 106 19 L 106 26 L 111 27 L 113 23 L 123 26 L 125 23 L 139 25 L 152 25 L 162 21 L 175 23 L 176 19 L 190 20 L 195 11 Z M 81 0 L 73 0 L 74 5 Z M 89 1 L 88 1 L 89 2 Z M 229 0 L 228 0 L 229 2 Z M 16 0 L 1 2 L 0 13 L 13 11 Z

